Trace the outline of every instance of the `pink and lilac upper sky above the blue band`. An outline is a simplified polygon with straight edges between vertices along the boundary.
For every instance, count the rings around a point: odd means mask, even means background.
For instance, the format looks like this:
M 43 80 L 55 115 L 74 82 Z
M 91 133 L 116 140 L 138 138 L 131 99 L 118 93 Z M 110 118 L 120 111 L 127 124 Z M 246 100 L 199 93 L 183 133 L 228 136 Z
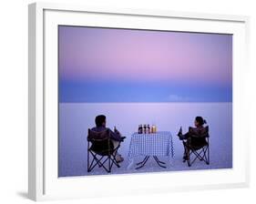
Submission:
M 61 26 L 60 76 L 231 82 L 231 36 Z M 206 78 L 207 76 L 207 78 Z

